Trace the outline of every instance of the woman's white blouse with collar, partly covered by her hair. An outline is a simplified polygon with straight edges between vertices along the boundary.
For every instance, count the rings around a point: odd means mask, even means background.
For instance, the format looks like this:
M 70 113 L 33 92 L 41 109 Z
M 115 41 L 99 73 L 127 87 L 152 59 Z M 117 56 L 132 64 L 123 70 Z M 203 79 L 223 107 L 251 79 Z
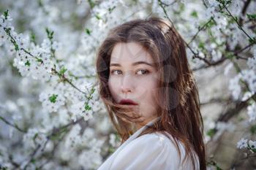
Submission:
M 181 150 L 181 161 L 179 161 L 176 146 L 164 134 L 156 132 L 139 136 L 159 118 L 151 120 L 129 136 L 129 139 L 121 144 L 97 170 L 192 170 L 192 161 L 181 164 L 185 156 L 181 142 L 178 143 Z M 197 158 L 196 154 L 195 158 Z M 198 158 L 195 163 L 196 169 L 200 169 Z

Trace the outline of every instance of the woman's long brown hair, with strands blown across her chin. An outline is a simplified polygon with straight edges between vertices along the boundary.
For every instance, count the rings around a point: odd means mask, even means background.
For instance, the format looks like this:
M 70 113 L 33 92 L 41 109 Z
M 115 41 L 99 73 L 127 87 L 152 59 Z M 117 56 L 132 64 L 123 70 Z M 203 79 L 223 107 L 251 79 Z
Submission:
M 165 19 L 151 17 L 130 20 L 112 28 L 97 50 L 96 67 L 99 83 L 99 96 L 121 136 L 121 143 L 134 133 L 134 124 L 140 123 L 141 115 L 128 107 L 116 104 L 110 95 L 108 78 L 110 57 L 113 47 L 118 42 L 138 42 L 151 54 L 157 64 L 159 74 L 158 115 L 159 121 L 147 128 L 143 134 L 156 131 L 173 136 L 174 143 L 180 150 L 178 141 L 184 144 L 186 157 L 192 159 L 195 169 L 195 155 L 200 162 L 200 170 L 206 169 L 205 147 L 203 143 L 203 118 L 200 113 L 200 101 L 195 77 L 187 61 L 184 40 L 176 28 Z M 128 120 L 128 121 L 126 121 Z M 185 159 L 184 159 L 185 160 Z

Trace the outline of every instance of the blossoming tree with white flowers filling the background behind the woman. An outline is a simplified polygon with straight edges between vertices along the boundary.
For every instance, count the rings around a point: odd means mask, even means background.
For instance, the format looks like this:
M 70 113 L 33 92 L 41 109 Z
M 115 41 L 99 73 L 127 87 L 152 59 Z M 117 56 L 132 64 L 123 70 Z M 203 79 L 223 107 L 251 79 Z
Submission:
M 120 141 L 97 93 L 95 52 L 110 28 L 150 15 L 174 23 L 195 74 L 215 68 L 229 81 L 227 98 L 215 98 L 228 109 L 206 120 L 205 142 L 235 129 L 230 119 L 246 109 L 237 147 L 255 156 L 255 8 L 250 0 L 1 1 L 0 169 L 97 169 L 114 152 Z

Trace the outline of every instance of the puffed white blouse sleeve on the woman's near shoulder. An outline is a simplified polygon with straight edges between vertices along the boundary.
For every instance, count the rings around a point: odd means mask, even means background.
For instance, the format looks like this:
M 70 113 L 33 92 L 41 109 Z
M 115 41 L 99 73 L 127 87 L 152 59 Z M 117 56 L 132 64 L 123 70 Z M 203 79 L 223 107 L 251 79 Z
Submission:
M 181 148 L 181 152 L 182 149 L 184 148 Z M 181 168 L 178 158 L 178 150 L 167 136 L 144 134 L 127 144 L 116 155 L 110 170 L 192 169 L 191 164 L 185 165 L 185 169 Z

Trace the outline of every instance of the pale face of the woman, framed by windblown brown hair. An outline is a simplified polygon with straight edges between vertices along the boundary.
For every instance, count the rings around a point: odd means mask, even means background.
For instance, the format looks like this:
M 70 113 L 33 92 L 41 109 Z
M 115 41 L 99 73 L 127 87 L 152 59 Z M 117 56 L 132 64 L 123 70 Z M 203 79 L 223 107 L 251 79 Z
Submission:
M 110 58 L 108 87 L 114 101 L 131 99 L 143 116 L 143 124 L 157 117 L 157 69 L 153 58 L 136 42 L 119 42 L 113 48 Z M 137 128 L 142 125 L 136 125 Z

